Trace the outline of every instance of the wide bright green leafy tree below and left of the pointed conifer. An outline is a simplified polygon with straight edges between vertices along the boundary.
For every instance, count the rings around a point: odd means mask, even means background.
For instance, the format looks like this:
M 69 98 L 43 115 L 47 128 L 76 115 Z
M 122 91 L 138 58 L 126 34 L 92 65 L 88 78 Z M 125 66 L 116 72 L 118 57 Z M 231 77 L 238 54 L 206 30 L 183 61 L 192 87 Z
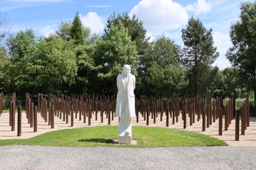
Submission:
M 72 41 L 64 42 L 56 36 L 42 37 L 28 65 L 33 79 L 28 83 L 35 92 L 55 93 L 72 86 L 77 75 L 76 56 Z

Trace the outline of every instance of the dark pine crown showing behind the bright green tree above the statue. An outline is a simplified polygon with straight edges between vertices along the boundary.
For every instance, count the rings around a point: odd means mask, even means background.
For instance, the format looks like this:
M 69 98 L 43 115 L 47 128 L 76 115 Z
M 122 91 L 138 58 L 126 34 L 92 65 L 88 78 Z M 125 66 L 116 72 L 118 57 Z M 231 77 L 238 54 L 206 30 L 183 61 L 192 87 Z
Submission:
M 139 21 L 135 14 L 130 18 L 127 12 L 122 15 L 116 15 L 114 12 L 109 16 L 106 27 L 110 29 L 110 25 L 116 26 L 119 22 L 123 23 L 124 27 L 128 29 L 128 34 L 131 36 L 132 41 L 135 41 L 138 55 L 143 55 L 150 39 L 150 37 L 146 37 L 147 30 L 144 28 L 143 22 Z

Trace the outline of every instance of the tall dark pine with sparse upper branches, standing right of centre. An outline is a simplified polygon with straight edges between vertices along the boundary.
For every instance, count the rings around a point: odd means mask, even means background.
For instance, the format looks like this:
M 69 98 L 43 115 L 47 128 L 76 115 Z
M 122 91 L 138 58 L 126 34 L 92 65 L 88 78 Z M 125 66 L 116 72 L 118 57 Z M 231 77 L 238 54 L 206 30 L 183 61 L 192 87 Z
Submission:
M 182 29 L 182 40 L 184 42 L 183 59 L 187 66 L 189 90 L 197 96 L 209 93 L 210 85 L 218 71 L 212 67 L 219 53 L 213 46 L 212 29 L 206 30 L 202 22 L 193 17 L 189 19 L 186 29 Z

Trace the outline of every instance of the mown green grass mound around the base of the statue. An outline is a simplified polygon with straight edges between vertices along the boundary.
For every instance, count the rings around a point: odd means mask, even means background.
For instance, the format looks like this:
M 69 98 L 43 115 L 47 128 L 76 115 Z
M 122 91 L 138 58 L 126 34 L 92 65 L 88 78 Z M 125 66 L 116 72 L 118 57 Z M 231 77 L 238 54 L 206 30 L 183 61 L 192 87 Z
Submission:
M 224 141 L 190 131 L 160 127 L 132 127 L 132 139 L 138 145 L 112 145 L 118 139 L 118 126 L 81 127 L 52 131 L 30 139 L 0 140 L 5 145 L 41 145 L 65 147 L 194 147 L 226 146 Z

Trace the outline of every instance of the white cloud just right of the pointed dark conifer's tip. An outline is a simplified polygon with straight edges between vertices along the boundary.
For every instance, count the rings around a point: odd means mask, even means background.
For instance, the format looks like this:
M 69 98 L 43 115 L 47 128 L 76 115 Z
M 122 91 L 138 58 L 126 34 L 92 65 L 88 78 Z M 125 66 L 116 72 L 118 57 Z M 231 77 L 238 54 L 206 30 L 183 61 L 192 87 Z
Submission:
M 80 19 L 84 26 L 90 27 L 92 33 L 100 33 L 104 30 L 104 20 L 96 12 L 88 12 L 86 16 L 80 15 Z

